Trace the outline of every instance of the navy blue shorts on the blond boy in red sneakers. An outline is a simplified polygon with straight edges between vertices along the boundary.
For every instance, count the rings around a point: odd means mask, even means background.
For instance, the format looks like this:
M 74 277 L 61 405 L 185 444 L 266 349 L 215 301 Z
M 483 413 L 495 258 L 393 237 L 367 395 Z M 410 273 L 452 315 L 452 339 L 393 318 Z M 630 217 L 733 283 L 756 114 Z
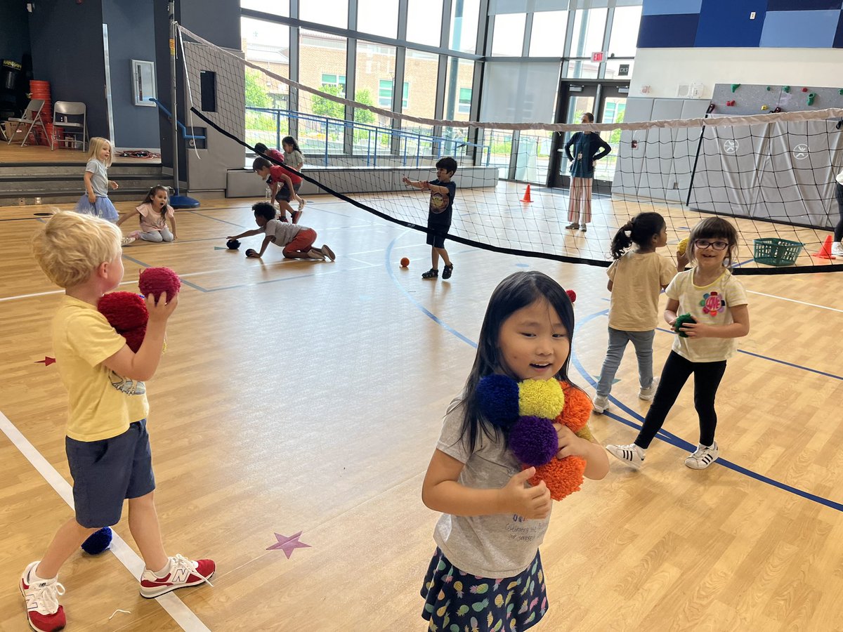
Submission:
M 147 420 L 129 425 L 121 435 L 100 441 L 64 439 L 73 477 L 76 522 L 83 527 L 111 527 L 120 522 L 123 501 L 155 489 Z

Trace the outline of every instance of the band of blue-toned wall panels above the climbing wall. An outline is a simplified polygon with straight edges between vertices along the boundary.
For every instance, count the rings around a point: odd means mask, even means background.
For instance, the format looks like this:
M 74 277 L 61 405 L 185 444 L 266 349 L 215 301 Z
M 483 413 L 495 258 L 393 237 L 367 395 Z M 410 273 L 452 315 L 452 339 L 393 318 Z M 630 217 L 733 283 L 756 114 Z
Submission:
M 690 47 L 843 48 L 843 0 L 644 0 L 638 48 Z

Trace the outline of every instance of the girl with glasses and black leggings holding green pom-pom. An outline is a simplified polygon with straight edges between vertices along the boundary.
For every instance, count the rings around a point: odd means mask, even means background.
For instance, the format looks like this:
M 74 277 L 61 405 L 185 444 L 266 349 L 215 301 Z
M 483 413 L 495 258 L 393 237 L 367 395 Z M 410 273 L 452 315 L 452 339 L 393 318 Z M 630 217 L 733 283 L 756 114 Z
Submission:
M 694 407 L 700 418 L 700 442 L 685 458 L 691 469 L 705 469 L 719 453 L 714 431 L 714 399 L 733 356 L 738 338 L 749 334 L 746 292 L 729 270 L 738 250 L 738 233 L 720 217 L 706 217 L 690 233 L 688 259 L 695 267 L 680 272 L 665 293 L 664 319 L 674 328 L 679 314 L 690 313 L 693 322 L 681 324 L 672 351 L 662 369 L 655 397 L 635 442 L 606 446 L 616 458 L 638 468 L 647 447 L 661 429 L 685 382 L 694 374 Z

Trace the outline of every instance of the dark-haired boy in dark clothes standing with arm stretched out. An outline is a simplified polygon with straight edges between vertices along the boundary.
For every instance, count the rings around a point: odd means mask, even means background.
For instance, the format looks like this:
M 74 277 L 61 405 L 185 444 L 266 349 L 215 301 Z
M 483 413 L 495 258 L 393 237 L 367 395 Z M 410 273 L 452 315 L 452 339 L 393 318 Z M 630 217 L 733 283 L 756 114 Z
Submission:
M 415 186 L 416 189 L 430 191 L 430 212 L 427 214 L 427 243 L 431 245 L 432 268 L 421 275 L 423 279 L 435 279 L 439 276 L 439 257 L 445 260 L 445 268 L 442 270 L 442 278 L 449 279 L 454 272 L 454 264 L 448 257 L 448 250 L 445 249 L 445 237 L 448 229 L 451 228 L 451 214 L 454 211 L 454 195 L 457 193 L 457 185 L 451 182 L 451 178 L 457 171 L 457 161 L 454 158 L 440 158 L 436 163 L 436 178 L 430 182 L 419 180 L 414 182 L 406 177 L 401 181 L 405 185 Z

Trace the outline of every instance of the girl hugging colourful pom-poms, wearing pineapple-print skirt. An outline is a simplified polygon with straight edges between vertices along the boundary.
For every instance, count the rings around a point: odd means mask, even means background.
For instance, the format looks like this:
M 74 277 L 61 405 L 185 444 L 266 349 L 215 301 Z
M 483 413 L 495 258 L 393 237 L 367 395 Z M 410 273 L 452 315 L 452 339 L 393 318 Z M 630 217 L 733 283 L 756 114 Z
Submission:
M 535 469 L 521 469 L 504 432 L 481 413 L 477 385 L 493 373 L 567 381 L 573 332 L 571 301 L 550 276 L 516 272 L 492 292 L 474 367 L 448 407 L 421 487 L 424 504 L 443 514 L 421 586 L 428 629 L 522 632 L 547 612 L 539 544 L 550 490 L 544 480 L 529 485 Z M 588 479 L 607 474 L 603 447 L 554 427 L 558 458 L 584 458 Z

